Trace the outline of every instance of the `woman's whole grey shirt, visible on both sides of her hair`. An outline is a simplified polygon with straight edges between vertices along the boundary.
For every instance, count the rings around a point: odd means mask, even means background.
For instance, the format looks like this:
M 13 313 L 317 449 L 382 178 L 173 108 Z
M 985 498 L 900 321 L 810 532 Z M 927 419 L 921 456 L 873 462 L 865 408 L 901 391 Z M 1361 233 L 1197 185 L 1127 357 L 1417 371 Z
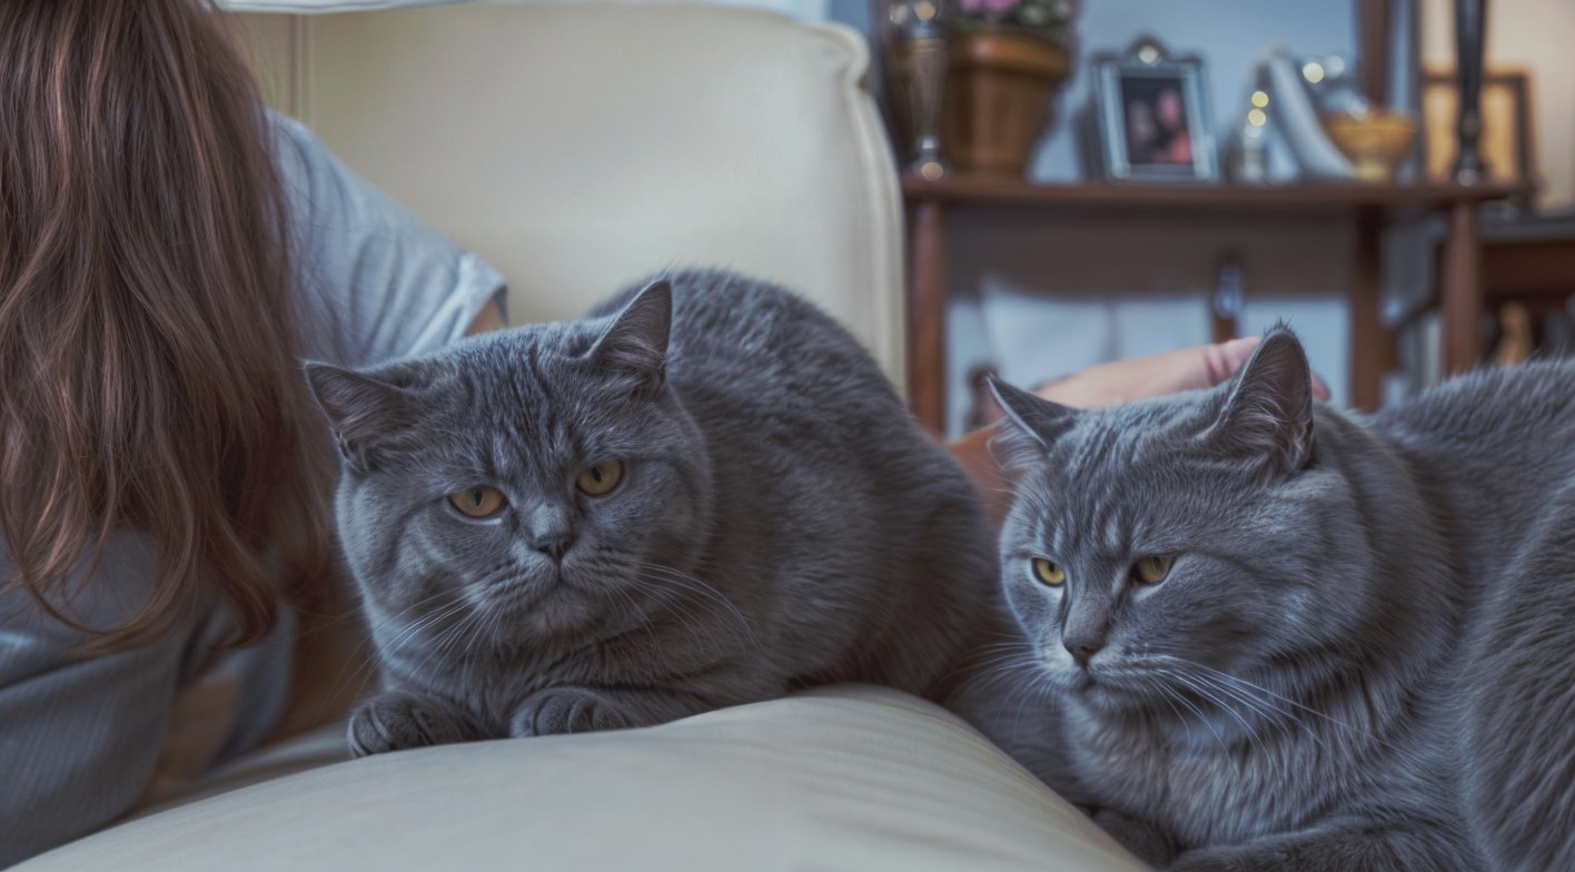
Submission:
M 346 168 L 301 123 L 272 115 L 301 258 L 307 353 L 345 367 L 430 351 L 465 335 L 504 279 Z M 115 534 L 68 614 L 131 615 L 151 587 L 146 537 Z M 0 578 L 14 573 L 0 543 Z M 76 589 L 74 579 L 71 589 Z M 25 593 L 0 595 L 0 867 L 115 820 L 142 795 L 176 689 L 205 660 L 205 623 L 93 660 L 85 637 Z M 246 661 L 228 751 L 261 737 L 288 696 L 287 630 Z

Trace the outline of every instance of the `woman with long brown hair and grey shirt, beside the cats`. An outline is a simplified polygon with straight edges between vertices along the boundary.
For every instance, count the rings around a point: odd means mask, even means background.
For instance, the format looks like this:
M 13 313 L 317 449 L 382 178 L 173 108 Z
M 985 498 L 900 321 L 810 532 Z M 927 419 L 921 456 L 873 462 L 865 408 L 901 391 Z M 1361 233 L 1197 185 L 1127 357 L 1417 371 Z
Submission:
M 502 323 L 501 275 L 258 105 L 203 0 L 0 3 L 0 866 L 343 713 L 291 691 L 295 642 L 334 636 L 302 628 L 343 614 L 298 360 Z M 1243 356 L 1051 392 L 1170 390 Z M 295 661 L 353 688 L 342 655 Z

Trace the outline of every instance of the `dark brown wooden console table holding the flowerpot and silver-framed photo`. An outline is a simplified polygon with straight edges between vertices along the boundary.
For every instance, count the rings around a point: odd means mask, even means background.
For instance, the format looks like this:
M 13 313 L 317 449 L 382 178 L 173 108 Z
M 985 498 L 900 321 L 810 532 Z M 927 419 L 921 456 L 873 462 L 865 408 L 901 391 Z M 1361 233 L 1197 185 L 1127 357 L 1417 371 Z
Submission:
M 940 430 L 945 416 L 947 216 L 978 209 L 1068 212 L 1087 219 L 1125 214 L 1167 214 L 1186 220 L 1241 216 L 1326 216 L 1358 222 L 1351 279 L 1351 403 L 1373 409 L 1381 378 L 1392 364 L 1389 337 L 1378 320 L 1381 275 L 1380 230 L 1391 208 L 1441 209 L 1452 216 L 1444 260 L 1446 346 L 1451 371 L 1469 368 L 1480 356 L 1477 337 L 1479 239 L 1476 206 L 1510 197 L 1514 186 L 1457 184 L 1307 184 L 1307 186 L 1183 186 L 1183 184 L 1030 184 L 953 176 L 909 178 L 902 194 L 910 209 L 907 382 L 914 412 Z

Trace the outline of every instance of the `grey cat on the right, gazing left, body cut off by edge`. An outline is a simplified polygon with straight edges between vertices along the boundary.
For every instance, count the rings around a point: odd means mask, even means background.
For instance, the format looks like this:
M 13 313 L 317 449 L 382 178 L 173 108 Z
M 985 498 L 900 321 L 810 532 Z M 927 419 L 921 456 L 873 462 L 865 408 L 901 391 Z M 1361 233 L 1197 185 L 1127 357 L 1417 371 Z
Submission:
M 1213 390 L 997 395 L 1043 778 L 1170 869 L 1575 869 L 1575 364 L 1361 417 L 1274 329 Z

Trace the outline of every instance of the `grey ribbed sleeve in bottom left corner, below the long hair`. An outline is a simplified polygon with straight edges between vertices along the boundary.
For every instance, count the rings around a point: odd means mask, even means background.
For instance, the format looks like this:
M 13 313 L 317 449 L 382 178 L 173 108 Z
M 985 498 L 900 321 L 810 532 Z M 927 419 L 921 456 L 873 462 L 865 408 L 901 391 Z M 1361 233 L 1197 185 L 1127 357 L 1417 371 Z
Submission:
M 117 534 L 69 614 L 93 626 L 120 622 L 142 603 L 151 571 L 151 545 Z M 13 575 L 0 548 L 0 578 Z M 120 817 L 158 763 L 187 639 L 91 660 L 71 653 L 82 642 L 27 593 L 0 595 L 0 867 Z

